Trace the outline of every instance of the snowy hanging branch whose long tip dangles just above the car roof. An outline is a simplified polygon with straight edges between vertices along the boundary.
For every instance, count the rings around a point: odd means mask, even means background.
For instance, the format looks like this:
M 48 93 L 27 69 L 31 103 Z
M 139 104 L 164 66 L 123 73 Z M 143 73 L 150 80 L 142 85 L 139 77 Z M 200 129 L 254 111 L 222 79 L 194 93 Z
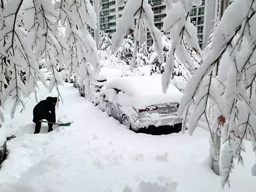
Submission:
M 201 0 L 165 1 L 167 16 L 164 18 L 163 30 L 166 33 L 170 32 L 172 46 L 164 66 L 162 81 L 164 92 L 168 89 L 170 78 L 172 77 L 175 55 L 180 63 L 184 63 L 191 68 L 194 67 L 193 60 L 196 61 L 196 58 L 194 58 L 190 50 L 193 49 L 199 54 L 200 47 L 196 36 L 196 28 L 191 24 L 189 12 L 193 5 L 198 6 L 202 3 Z

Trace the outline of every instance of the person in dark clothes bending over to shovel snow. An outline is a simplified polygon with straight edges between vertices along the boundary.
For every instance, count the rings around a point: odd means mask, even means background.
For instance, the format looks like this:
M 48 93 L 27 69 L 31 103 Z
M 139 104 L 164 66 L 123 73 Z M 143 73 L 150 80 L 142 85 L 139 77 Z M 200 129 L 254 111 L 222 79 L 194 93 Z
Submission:
M 42 120 L 46 119 L 48 123 L 48 132 L 52 131 L 52 125 L 56 124 L 55 106 L 57 97 L 47 97 L 36 104 L 33 109 L 33 122 L 36 124 L 34 134 L 40 132 Z M 51 123 L 50 123 L 51 122 Z

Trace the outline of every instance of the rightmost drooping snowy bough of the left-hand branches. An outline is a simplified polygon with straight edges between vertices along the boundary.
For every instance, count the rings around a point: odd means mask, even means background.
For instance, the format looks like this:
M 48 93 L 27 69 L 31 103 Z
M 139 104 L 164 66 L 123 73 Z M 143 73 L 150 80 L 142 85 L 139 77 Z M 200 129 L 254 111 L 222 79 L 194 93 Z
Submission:
M 84 66 L 81 67 L 81 65 L 86 65 L 87 68 L 88 63 L 92 65 L 96 73 L 99 73 L 100 60 L 97 55 L 97 45 L 87 30 L 87 24 L 96 28 L 97 23 L 90 0 L 60 0 L 55 5 L 60 10 L 57 21 L 65 28 L 65 43 L 68 45 L 67 65 L 70 72 L 68 79 L 73 71 L 81 79 L 90 77 L 83 73 Z M 56 27 L 58 27 L 58 22 L 56 22 Z M 86 86 L 86 89 L 89 87 Z

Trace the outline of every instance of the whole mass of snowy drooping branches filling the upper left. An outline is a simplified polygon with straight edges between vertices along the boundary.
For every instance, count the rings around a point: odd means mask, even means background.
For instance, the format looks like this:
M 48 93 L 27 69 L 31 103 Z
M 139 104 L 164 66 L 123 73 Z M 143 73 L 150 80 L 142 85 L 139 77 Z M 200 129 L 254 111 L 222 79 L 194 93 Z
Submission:
M 24 97 L 35 92 L 38 81 L 47 86 L 40 74 L 40 60 L 52 73 L 49 91 L 56 88 L 59 99 L 62 79 L 58 66 L 68 63 L 70 72 L 78 72 L 90 62 L 99 72 L 96 44 L 86 29 L 87 24 L 95 28 L 96 23 L 89 0 L 9 0 L 1 1 L 0 6 L 0 76 L 4 76 L 4 68 L 11 72 L 8 88 L 1 88 L 0 95 L 3 102 L 13 99 L 12 117 L 17 105 L 26 108 Z M 22 73 L 26 74 L 24 82 Z M 3 78 L 1 83 L 6 83 Z

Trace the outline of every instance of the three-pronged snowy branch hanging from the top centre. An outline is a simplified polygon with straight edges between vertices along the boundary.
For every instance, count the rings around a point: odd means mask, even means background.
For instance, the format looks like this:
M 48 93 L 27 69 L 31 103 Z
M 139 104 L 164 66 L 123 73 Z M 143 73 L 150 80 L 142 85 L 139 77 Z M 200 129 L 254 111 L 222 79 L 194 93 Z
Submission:
M 134 23 L 135 20 L 135 23 Z M 112 52 L 118 51 L 118 48 L 124 42 L 124 36 L 134 34 L 134 53 L 131 60 L 131 71 L 136 63 L 138 53 L 139 38 L 148 28 L 154 41 L 154 46 L 159 60 L 163 62 L 161 32 L 154 25 L 154 13 L 150 4 L 146 0 L 129 0 L 125 4 L 122 17 L 118 19 L 116 32 L 112 37 Z

